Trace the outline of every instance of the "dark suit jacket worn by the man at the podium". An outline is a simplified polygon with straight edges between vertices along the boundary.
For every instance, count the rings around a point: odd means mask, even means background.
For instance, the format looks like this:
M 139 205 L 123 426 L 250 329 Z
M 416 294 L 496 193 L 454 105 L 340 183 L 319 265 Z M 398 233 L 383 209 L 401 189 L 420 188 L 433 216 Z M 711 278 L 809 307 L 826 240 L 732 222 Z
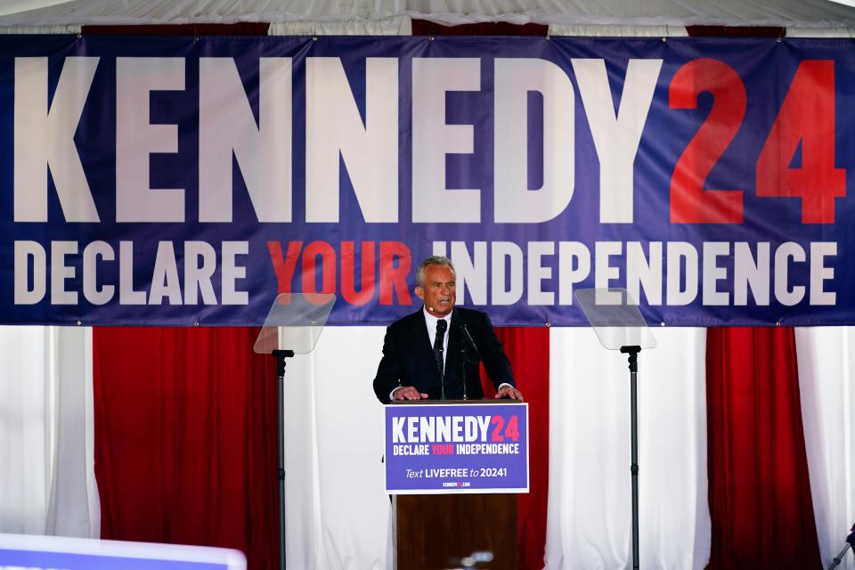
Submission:
M 464 340 L 460 321 L 466 328 L 481 355 L 487 375 L 496 387 L 514 383 L 510 362 L 501 348 L 499 338 L 493 331 L 489 317 L 481 311 L 455 307 L 448 337 L 448 354 L 445 355 L 445 397 L 459 400 L 463 397 L 463 376 L 469 399 L 484 397 L 478 363 L 474 351 Z M 431 399 L 442 394 L 439 369 L 436 366 L 433 338 L 428 335 L 423 309 L 393 322 L 386 330 L 383 341 L 383 358 L 374 379 L 374 393 L 382 403 L 389 403 L 389 394 L 399 386 L 413 386 Z M 461 347 L 468 348 L 468 358 L 460 353 Z

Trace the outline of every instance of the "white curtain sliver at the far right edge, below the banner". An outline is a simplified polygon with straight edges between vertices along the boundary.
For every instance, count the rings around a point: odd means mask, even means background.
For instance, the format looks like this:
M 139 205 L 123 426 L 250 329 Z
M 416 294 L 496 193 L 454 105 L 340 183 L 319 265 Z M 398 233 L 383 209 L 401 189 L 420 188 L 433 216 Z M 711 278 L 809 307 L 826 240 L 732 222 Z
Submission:
M 855 523 L 855 329 L 796 329 L 804 443 L 819 552 L 828 567 Z M 839 568 L 855 570 L 847 553 Z

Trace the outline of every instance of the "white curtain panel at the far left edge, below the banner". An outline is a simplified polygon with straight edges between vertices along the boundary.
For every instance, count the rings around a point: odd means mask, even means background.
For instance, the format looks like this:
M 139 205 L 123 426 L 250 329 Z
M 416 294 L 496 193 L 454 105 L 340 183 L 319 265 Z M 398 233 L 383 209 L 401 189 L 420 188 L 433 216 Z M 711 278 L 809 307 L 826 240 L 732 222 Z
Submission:
M 0 532 L 97 537 L 92 330 L 0 327 Z

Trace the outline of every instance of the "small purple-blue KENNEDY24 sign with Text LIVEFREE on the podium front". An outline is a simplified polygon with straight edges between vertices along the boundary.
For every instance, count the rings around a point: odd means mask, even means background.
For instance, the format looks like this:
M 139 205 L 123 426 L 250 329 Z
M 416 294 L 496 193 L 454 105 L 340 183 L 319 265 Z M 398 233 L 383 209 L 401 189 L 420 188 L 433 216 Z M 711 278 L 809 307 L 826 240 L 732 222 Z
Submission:
M 387 405 L 387 493 L 528 493 L 528 404 L 506 402 Z

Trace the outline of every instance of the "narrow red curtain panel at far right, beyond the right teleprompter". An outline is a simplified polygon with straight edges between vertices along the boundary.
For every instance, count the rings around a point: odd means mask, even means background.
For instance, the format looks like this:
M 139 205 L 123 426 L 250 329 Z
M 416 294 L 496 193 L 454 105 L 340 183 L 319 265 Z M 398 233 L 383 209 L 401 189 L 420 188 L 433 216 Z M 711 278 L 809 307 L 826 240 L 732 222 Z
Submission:
M 792 329 L 710 329 L 711 570 L 821 568 Z

